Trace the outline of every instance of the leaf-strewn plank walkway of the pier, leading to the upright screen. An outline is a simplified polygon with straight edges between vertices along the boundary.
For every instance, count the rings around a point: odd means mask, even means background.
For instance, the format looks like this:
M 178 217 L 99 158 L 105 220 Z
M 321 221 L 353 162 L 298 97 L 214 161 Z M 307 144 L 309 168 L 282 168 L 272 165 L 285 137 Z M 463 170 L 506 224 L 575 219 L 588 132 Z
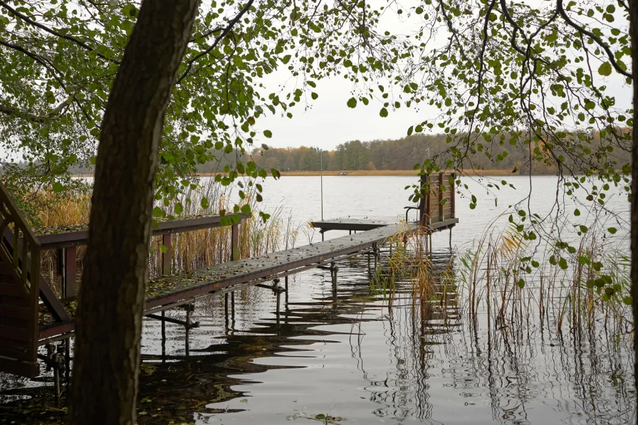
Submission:
M 149 282 L 146 309 L 229 288 L 263 278 L 275 278 L 298 268 L 324 263 L 333 258 L 367 251 L 375 244 L 385 243 L 397 232 L 412 233 L 418 224 L 391 224 L 359 234 L 342 236 L 330 241 L 311 243 L 263 256 L 221 263 L 177 276 L 167 276 Z

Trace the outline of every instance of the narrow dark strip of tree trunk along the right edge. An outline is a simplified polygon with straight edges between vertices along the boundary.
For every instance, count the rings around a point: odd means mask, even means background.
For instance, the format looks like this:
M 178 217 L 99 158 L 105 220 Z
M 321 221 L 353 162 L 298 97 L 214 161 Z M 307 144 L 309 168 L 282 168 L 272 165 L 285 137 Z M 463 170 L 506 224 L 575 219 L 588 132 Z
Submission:
M 638 122 L 638 0 L 629 0 L 629 37 L 632 40 L 632 80 L 634 88 L 634 122 Z M 634 388 L 638 389 L 638 132 L 632 128 L 632 309 L 634 312 Z M 638 414 L 636 415 L 638 425 Z

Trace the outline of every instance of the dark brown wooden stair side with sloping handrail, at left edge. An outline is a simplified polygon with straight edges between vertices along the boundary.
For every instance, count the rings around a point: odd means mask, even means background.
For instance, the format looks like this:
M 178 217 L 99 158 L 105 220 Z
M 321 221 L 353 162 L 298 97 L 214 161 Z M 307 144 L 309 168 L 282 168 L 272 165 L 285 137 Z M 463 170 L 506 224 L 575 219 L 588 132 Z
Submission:
M 39 374 L 40 242 L 0 183 L 0 369 Z

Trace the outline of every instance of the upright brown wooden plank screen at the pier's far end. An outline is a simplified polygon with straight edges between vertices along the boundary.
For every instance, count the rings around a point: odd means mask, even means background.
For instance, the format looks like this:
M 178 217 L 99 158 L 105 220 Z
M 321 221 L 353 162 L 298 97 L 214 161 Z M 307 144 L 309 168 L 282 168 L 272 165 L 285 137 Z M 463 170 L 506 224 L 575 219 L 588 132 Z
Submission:
M 422 226 L 455 219 L 456 174 L 422 174 L 419 217 Z

